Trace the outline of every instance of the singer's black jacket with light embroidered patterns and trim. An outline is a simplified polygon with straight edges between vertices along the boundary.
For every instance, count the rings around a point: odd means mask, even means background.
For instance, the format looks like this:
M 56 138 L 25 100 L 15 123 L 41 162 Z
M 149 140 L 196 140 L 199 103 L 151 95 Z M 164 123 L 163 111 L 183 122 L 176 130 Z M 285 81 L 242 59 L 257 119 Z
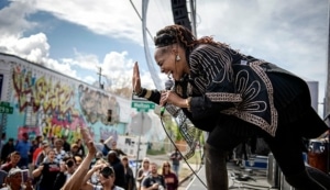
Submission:
M 176 83 L 175 90 L 193 97 L 191 113 L 185 113 L 197 127 L 204 130 L 205 121 L 217 110 L 275 135 L 278 115 L 266 72 L 293 74 L 227 46 L 206 44 L 191 52 L 189 67 L 189 82 Z

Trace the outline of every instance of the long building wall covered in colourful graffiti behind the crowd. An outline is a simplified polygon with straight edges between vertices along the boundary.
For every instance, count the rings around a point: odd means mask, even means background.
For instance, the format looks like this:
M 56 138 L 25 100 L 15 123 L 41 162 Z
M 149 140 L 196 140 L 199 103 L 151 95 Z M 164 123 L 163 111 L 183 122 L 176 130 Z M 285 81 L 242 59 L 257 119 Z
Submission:
M 8 137 L 28 132 L 31 138 L 66 135 L 74 142 L 79 126 L 87 126 L 98 142 L 127 132 L 131 100 L 7 54 L 0 54 L 0 76 L 1 101 L 14 108 L 13 114 L 0 113 Z

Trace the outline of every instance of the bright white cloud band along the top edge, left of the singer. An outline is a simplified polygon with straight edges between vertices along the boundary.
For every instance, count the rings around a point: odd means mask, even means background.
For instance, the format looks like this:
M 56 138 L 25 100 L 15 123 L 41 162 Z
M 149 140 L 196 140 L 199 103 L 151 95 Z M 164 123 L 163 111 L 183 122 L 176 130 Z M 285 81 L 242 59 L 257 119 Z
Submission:
M 82 25 L 94 33 L 114 38 L 141 41 L 141 21 L 129 0 L 70 0 L 54 3 L 36 1 L 35 9 L 53 13 L 61 20 Z

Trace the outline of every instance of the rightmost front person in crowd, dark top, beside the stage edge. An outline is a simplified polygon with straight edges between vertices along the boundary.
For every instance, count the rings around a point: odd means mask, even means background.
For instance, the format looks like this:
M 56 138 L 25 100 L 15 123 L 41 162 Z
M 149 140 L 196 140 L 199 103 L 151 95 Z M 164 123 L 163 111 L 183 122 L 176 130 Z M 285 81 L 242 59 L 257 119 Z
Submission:
M 162 166 L 162 175 L 164 177 L 167 190 L 177 190 L 178 176 L 170 169 L 169 161 L 164 161 Z

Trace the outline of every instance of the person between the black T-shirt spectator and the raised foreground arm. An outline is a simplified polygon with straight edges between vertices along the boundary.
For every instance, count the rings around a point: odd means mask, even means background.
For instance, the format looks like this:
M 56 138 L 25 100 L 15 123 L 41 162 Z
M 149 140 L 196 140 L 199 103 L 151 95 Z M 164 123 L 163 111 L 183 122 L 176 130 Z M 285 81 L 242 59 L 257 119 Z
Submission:
M 54 188 L 53 189 L 61 189 L 66 181 L 74 175 L 75 170 L 77 169 L 76 160 L 74 157 L 66 157 L 59 165 L 59 172 L 56 176 Z

